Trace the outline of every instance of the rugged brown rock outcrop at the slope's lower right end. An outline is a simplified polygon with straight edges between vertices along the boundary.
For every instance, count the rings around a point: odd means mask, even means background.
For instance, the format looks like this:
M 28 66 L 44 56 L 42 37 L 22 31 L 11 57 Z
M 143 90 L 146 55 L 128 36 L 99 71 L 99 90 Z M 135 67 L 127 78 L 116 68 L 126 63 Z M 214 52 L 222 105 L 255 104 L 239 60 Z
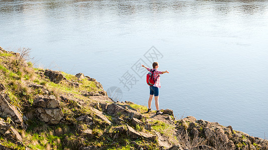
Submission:
M 267 140 L 258 140 L 257 137 L 246 133 L 231 130 L 231 126 L 222 126 L 218 122 L 197 120 L 193 116 L 181 119 L 176 124 L 177 134 L 204 138 L 207 145 L 199 145 L 195 149 L 255 149 L 253 144 L 258 143 L 262 148 L 268 148 Z

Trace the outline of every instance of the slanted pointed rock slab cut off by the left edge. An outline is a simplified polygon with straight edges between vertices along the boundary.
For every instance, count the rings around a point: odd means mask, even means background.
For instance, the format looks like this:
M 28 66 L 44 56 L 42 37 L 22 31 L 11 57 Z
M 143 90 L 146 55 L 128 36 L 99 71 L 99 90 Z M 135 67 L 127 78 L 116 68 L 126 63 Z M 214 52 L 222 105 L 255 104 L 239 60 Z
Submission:
M 1 117 L 11 117 L 11 119 L 17 124 L 22 124 L 23 122 L 22 115 L 18 109 L 14 105 L 10 104 L 1 93 L 0 114 Z

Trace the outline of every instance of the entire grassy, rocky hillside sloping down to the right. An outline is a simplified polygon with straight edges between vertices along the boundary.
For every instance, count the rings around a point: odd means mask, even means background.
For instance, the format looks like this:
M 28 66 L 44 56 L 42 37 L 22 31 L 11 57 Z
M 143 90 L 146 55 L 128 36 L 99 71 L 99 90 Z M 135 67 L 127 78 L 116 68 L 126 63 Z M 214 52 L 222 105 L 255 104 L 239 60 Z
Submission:
M 0 91 L 0 149 L 268 149 L 231 126 L 113 101 L 90 76 L 34 68 L 2 47 Z

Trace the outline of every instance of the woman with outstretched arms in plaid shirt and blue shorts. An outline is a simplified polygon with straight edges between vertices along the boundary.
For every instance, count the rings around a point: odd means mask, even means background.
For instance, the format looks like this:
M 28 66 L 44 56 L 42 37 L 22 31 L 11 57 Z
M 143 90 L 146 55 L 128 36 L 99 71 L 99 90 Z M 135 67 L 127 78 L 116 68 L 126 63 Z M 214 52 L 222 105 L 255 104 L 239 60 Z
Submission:
M 143 64 L 141 64 L 142 67 L 145 67 L 148 71 L 151 71 L 150 68 L 144 66 Z M 159 67 L 159 64 L 158 62 L 153 62 L 152 64 L 153 68 L 152 70 L 155 70 L 153 72 L 153 78 L 155 80 L 154 82 L 154 85 L 153 86 L 149 86 L 150 87 L 150 97 L 149 97 L 149 100 L 148 100 L 148 111 L 147 112 L 150 112 L 152 111 L 152 108 L 151 108 L 151 104 L 152 104 L 152 99 L 153 99 L 153 95 L 154 95 L 154 100 L 155 100 L 155 107 L 156 107 L 156 114 L 162 114 L 162 112 L 160 111 L 159 109 L 159 103 L 158 103 L 158 98 L 159 98 L 159 88 L 161 87 L 160 86 L 160 76 L 158 76 L 159 74 L 163 74 L 163 73 L 169 73 L 167 70 L 165 71 L 158 71 L 157 68 Z

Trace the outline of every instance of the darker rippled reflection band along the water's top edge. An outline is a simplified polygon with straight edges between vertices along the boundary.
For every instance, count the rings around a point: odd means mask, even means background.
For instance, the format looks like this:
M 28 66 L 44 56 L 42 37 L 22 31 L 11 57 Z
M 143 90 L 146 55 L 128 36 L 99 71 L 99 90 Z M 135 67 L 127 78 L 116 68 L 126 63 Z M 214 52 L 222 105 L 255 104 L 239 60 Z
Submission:
M 263 3 L 264 2 L 264 3 Z M 254 14 L 267 11 L 267 2 L 265 0 L 32 0 L 32 1 L 15 1 L 2 0 L 0 2 L 0 12 L 22 13 L 26 9 L 65 9 L 67 7 L 77 8 L 91 8 L 91 7 L 105 7 L 107 9 L 117 10 L 118 15 L 135 14 L 139 11 L 146 11 L 147 9 L 153 12 L 166 12 L 170 10 L 186 11 L 187 7 L 192 8 L 191 11 L 200 11 L 201 9 L 213 8 L 216 13 L 226 15 L 230 12 L 242 12 L 245 14 Z M 205 6 L 205 7 L 204 7 Z M 79 11 L 79 9 L 77 9 Z

